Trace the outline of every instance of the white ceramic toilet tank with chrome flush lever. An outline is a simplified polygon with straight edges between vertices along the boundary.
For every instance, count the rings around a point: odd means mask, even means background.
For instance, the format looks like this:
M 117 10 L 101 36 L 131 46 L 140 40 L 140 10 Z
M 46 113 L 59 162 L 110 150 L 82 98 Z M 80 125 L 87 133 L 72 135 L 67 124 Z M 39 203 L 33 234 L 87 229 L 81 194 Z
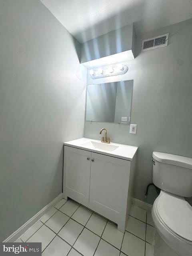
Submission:
M 153 183 L 184 197 L 192 196 L 192 158 L 153 152 Z

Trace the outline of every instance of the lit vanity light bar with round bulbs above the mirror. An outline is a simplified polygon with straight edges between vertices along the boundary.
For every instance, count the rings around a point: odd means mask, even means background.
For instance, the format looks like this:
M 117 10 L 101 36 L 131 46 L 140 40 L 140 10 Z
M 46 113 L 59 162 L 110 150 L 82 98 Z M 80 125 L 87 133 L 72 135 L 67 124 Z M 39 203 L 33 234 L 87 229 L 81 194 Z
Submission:
M 98 68 L 97 71 L 90 70 L 89 74 L 92 79 L 96 78 L 102 78 L 102 77 L 107 77 L 107 76 L 116 76 L 116 75 L 122 75 L 125 74 L 128 70 L 127 65 L 123 64 L 118 64 L 117 66 L 110 66 L 106 69 Z

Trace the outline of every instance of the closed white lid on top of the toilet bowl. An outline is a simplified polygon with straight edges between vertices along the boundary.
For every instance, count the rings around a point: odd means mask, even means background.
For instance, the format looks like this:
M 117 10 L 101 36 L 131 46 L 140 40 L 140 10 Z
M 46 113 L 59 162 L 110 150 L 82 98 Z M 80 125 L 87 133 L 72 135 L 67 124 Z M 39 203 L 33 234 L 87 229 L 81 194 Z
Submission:
M 161 192 L 156 209 L 170 230 L 192 242 L 192 206 L 184 198 Z

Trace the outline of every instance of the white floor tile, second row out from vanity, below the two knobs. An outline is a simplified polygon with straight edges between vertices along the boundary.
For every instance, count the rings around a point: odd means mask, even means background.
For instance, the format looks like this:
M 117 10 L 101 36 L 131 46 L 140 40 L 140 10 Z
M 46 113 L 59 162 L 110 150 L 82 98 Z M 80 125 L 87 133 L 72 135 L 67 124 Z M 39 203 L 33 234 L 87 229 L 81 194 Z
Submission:
M 83 232 L 80 234 L 73 247 L 84 256 L 93 256 L 98 246 L 99 240 L 99 236 L 84 228 Z

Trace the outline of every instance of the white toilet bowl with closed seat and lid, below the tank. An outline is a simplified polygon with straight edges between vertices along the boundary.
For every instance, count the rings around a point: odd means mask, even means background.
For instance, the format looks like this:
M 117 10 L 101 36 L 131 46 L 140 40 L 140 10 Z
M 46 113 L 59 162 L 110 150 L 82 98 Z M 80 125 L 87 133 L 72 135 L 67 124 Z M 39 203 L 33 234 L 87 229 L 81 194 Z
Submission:
M 192 256 L 192 207 L 184 198 L 161 191 L 152 217 L 159 235 L 174 252 Z

